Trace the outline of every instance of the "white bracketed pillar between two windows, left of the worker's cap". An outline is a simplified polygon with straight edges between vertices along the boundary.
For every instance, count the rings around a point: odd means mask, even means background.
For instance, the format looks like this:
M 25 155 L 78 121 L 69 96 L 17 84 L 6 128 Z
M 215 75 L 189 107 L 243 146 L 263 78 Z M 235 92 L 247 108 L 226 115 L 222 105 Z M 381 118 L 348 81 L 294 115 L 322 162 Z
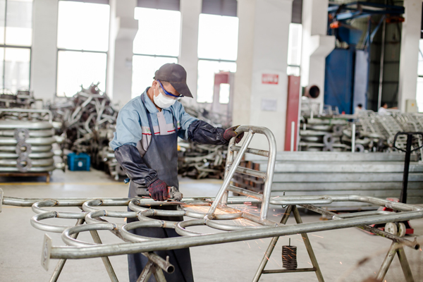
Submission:
M 138 30 L 136 0 L 111 0 L 107 92 L 123 106 L 131 99 L 133 41 Z

